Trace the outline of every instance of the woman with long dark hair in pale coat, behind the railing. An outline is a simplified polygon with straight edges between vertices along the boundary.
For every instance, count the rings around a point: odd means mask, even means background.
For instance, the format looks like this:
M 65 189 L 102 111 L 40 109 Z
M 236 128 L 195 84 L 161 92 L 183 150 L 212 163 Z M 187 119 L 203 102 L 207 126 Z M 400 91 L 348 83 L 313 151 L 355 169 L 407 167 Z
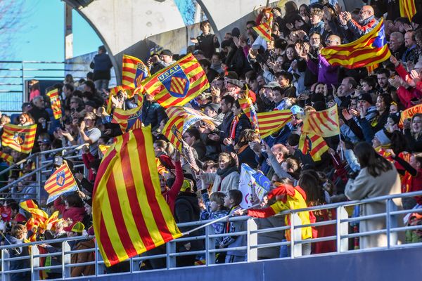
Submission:
M 350 200 L 363 200 L 383 195 L 399 194 L 400 178 L 395 166 L 372 148 L 369 143 L 358 143 L 354 148 L 361 170 L 356 178 L 350 179 L 345 188 L 345 195 Z M 397 198 L 391 203 L 391 210 L 402 205 Z M 386 201 L 359 205 L 360 216 L 385 213 Z M 392 216 L 392 225 L 397 225 L 397 217 Z M 385 216 L 359 221 L 359 233 L 386 229 Z M 390 234 L 390 244 L 397 243 L 397 233 Z M 359 238 L 361 249 L 373 247 L 387 247 L 387 235 L 366 235 Z

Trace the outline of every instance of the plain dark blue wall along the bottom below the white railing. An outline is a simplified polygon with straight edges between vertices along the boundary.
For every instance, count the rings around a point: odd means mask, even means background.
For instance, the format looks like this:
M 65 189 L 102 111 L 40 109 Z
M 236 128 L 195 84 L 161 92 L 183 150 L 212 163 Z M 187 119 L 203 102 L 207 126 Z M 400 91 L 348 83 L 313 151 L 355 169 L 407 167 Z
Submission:
M 421 247 L 89 278 L 101 281 L 421 280 Z

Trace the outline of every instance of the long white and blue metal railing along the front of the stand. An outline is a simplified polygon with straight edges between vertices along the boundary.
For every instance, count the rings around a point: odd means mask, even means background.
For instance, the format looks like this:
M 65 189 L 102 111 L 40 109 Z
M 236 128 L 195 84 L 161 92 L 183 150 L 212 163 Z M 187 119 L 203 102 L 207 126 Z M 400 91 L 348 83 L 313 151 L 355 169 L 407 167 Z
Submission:
M 395 242 L 392 239 L 393 235 L 397 235 L 399 233 L 403 233 L 405 231 L 413 231 L 413 230 L 421 230 L 422 225 L 418 226 L 394 226 L 395 221 L 397 221 L 397 216 L 403 216 L 409 213 L 422 213 L 422 209 L 408 209 L 408 210 L 393 210 L 391 206 L 393 204 L 393 200 L 401 197 L 415 197 L 415 196 L 422 196 L 422 191 L 419 192 L 410 192 L 398 195 L 388 195 L 382 197 L 375 197 L 366 200 L 360 201 L 350 201 L 350 202 L 340 202 L 335 204 L 326 204 L 316 207 L 310 207 L 306 209 L 295 209 L 295 210 L 288 210 L 283 211 L 277 216 L 279 218 L 283 218 L 283 216 L 290 216 L 290 226 L 279 226 L 276 228 L 264 228 L 259 229 L 257 220 L 258 218 L 250 218 L 248 216 L 239 216 L 230 218 L 229 221 L 243 221 L 245 228 L 236 233 L 224 233 L 224 234 L 215 234 L 214 228 L 212 226 L 207 226 L 205 228 L 205 232 L 200 233 L 195 237 L 181 237 L 177 240 L 172 240 L 165 244 L 165 253 L 162 254 L 154 254 L 151 255 L 148 252 L 141 254 L 141 256 L 132 257 L 131 259 L 127 260 L 129 263 L 127 270 L 124 273 L 134 273 L 143 270 L 141 265 L 146 263 L 148 260 L 152 259 L 165 259 L 165 267 L 161 268 L 161 270 L 168 270 L 170 268 L 177 267 L 177 257 L 179 256 L 187 256 L 187 255 L 202 255 L 205 257 L 205 263 L 203 266 L 214 266 L 215 265 L 215 256 L 217 253 L 221 253 L 224 251 L 245 251 L 245 262 L 255 262 L 259 260 L 258 256 L 258 249 L 264 249 L 268 247 L 290 247 L 290 255 L 285 258 L 279 258 L 274 256 L 274 259 L 295 259 L 298 257 L 305 257 L 302 255 L 302 245 L 309 244 L 309 243 L 316 243 L 316 242 L 323 242 L 323 241 L 335 241 L 335 251 L 329 252 L 325 254 L 319 255 L 333 255 L 333 254 L 347 254 L 347 253 L 356 253 L 359 251 L 368 251 L 368 250 L 378 250 L 378 249 L 393 249 L 397 247 L 422 247 L 422 242 L 417 242 L 413 244 L 400 244 Z M 346 211 L 346 207 L 354 207 L 357 205 L 363 204 L 371 204 L 371 203 L 383 203 L 385 204 L 385 212 L 380 214 L 371 214 L 366 216 L 359 216 L 356 218 L 351 218 Z M 316 223 L 310 223 L 307 225 L 302 225 L 298 214 L 302 211 L 319 211 L 319 210 L 328 210 L 328 209 L 335 209 L 335 218 L 328 220 L 328 221 L 319 221 Z M 360 221 L 371 221 L 376 218 L 383 218 L 385 219 L 385 226 L 384 229 L 366 231 L 364 233 L 349 233 L 349 226 L 350 223 L 357 223 Z M 179 227 L 187 227 L 190 226 L 192 228 L 196 226 L 204 225 L 210 221 L 196 221 L 191 223 L 179 223 Z M 315 237 L 312 239 L 302 240 L 302 228 L 307 227 L 317 227 L 317 226 L 328 226 L 328 225 L 335 225 L 335 233 L 328 237 Z M 288 230 L 291 233 L 291 240 L 290 241 L 282 241 L 280 237 L 279 242 L 272 242 L 267 244 L 258 244 L 258 238 L 260 235 L 265 235 L 266 233 L 271 233 L 275 231 L 281 230 Z M 370 235 L 386 235 L 387 242 L 381 247 L 378 248 L 371 248 L 371 249 L 350 249 L 349 247 L 349 240 L 356 237 L 366 237 Z M 216 249 L 215 248 L 215 239 L 218 237 L 226 237 L 226 236 L 245 236 L 245 243 L 240 247 L 229 247 L 224 249 Z M 101 275 L 106 275 L 106 267 L 104 266 L 104 262 L 101 258 L 101 254 L 98 251 L 98 245 L 96 242 L 94 243 L 94 247 L 90 249 L 80 249 L 75 250 L 72 249 L 70 246 L 71 244 L 75 244 L 80 242 L 81 240 L 92 240 L 94 237 L 69 237 L 69 238 L 62 238 L 57 240 L 47 240 L 47 241 L 39 241 L 39 242 L 31 242 L 26 244 L 13 244 L 7 246 L 1 246 L 1 280 L 8 281 L 11 280 L 11 275 L 15 273 L 23 273 L 27 272 L 31 274 L 31 280 L 39 280 L 39 273 L 41 270 L 55 270 L 54 272 L 58 273 L 60 277 L 58 279 L 65 279 L 72 276 L 72 270 L 76 267 L 80 266 L 94 266 L 92 268 L 93 274 L 90 275 L 92 277 L 98 277 Z M 198 251 L 187 251 L 187 252 L 178 252 L 176 250 L 176 243 L 177 242 L 189 242 L 193 240 L 200 240 L 203 241 L 204 248 Z M 39 247 L 45 247 L 46 244 L 56 243 L 56 251 L 50 251 L 46 254 L 40 254 Z M 57 245 L 59 244 L 59 245 Z M 30 249 L 29 254 L 26 256 L 16 256 L 13 253 L 13 249 L 17 247 L 27 247 Z M 91 261 L 86 261 L 83 263 L 71 263 L 72 255 L 79 254 L 79 253 L 87 253 L 91 252 L 94 254 L 95 258 Z M 307 255 L 306 257 L 316 256 L 314 254 Z M 41 264 L 41 259 L 46 259 L 47 257 L 51 257 L 51 259 L 56 260 L 55 265 L 46 266 L 45 264 Z M 54 257 L 54 258 L 53 258 Z M 11 270 L 11 265 L 18 261 L 26 261 L 27 267 L 20 268 L 18 270 Z M 84 276 L 87 277 L 87 276 Z

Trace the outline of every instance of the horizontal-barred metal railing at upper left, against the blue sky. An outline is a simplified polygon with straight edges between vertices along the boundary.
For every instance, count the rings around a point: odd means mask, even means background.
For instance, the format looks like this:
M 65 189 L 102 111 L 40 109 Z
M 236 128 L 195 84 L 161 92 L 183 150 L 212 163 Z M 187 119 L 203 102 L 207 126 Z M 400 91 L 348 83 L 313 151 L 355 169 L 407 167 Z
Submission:
M 72 67 L 72 65 L 82 67 Z M 11 113 L 21 111 L 22 103 L 27 101 L 26 95 L 29 93 L 27 81 L 32 79 L 63 81 L 65 73 L 68 72 L 72 73 L 77 81 L 85 78 L 87 72 L 91 71 L 85 65 L 55 61 L 0 60 L 0 110 Z

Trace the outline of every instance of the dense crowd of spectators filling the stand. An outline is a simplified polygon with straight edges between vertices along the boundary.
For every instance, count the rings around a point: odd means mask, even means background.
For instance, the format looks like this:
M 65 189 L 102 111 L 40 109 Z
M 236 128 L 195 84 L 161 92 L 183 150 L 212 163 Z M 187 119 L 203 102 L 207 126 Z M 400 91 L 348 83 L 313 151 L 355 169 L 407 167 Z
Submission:
M 227 214 L 245 214 L 239 204 L 243 199 L 238 190 L 241 164 L 262 171 L 271 180 L 271 191 L 260 208 L 249 209 L 249 216 L 260 218 L 259 228 L 284 226 L 290 218 L 273 216 L 286 209 L 301 209 L 317 205 L 362 200 L 381 195 L 422 190 L 422 110 L 399 124 L 400 112 L 422 103 L 422 15 L 421 1 L 416 1 L 418 13 L 410 21 L 402 18 L 398 1 L 371 1 L 371 6 L 353 11 L 332 2 L 311 1 L 312 4 L 297 6 L 295 1 L 286 2 L 283 9 L 270 8 L 260 11 L 256 20 L 235 27 L 222 34 L 221 42 L 211 33 L 209 22 L 201 22 L 201 34 L 192 38 L 193 53 L 210 81 L 210 89 L 201 93 L 186 107 L 202 111 L 218 120 L 219 125 L 197 122 L 183 134 L 184 148 L 181 153 L 162 135 L 168 117 L 165 109 L 152 96 L 144 96 L 142 122 L 153 130 L 154 151 L 158 161 L 162 195 L 170 205 L 177 223 L 222 218 Z M 259 37 L 252 27 L 274 15 L 271 41 Z M 330 65 L 321 56 L 321 48 L 350 43 L 370 32 L 385 18 L 385 37 L 392 53 L 373 72 L 366 67 L 347 69 Z M 84 144 L 79 161 L 88 172 L 73 169 L 79 185 L 78 192 L 60 197 L 45 205 L 45 194 L 40 207 L 49 214 L 59 211 L 60 221 L 54 230 L 23 228 L 30 218 L 19 203 L 37 191 L 31 183 L 19 183 L 8 190 L 1 201 L 4 214 L 5 244 L 18 244 L 35 234 L 37 240 L 56 237 L 94 234 L 91 228 L 91 196 L 98 166 L 103 156 L 98 145 L 110 145 L 113 137 L 122 133 L 118 124 L 110 122 L 106 110 L 108 79 L 104 71 L 110 67 L 100 48 L 94 61 L 94 79 L 91 75 L 81 81 L 66 77 L 63 84 L 56 84 L 62 102 L 63 117 L 54 120 L 49 100 L 37 87 L 31 91 L 30 103 L 24 103 L 18 119 L 2 115 L 4 124 L 37 124 L 37 141 L 33 152 L 46 151 L 70 145 Z M 183 54 L 170 50 L 151 55 L 147 64 L 151 74 L 172 65 Z M 99 65 L 105 68 L 98 70 Z M 100 71 L 100 72 L 98 72 Z M 99 77 L 99 78 L 98 78 Z M 279 131 L 263 140 L 252 128 L 250 119 L 241 110 L 238 98 L 245 90 L 255 94 L 257 112 L 292 110 L 293 120 Z M 47 89 L 46 91 L 51 90 Z M 101 91 L 98 91 L 101 90 Z M 111 99 L 112 107 L 129 110 L 136 103 L 121 91 Z M 338 105 L 341 138 L 325 138 L 329 147 L 319 161 L 298 149 L 303 113 L 326 110 Z M 2 152 L 11 155 L 11 162 L 4 161 L 0 169 L 19 162 L 27 155 L 9 148 Z M 54 155 L 45 155 L 52 159 Z M 68 160 L 68 162 L 71 162 Z M 20 164 L 4 181 L 12 182 L 32 171 L 34 164 Z M 31 178 L 30 178 L 31 179 Z M 34 178 L 32 178 L 34 180 Z M 392 209 L 415 209 L 400 223 L 420 225 L 422 197 L 395 200 Z M 7 214 L 8 210 L 11 210 Z M 350 216 L 366 216 L 385 211 L 385 203 L 364 204 L 349 210 Z M 301 212 L 303 224 L 335 219 L 335 211 Z M 6 220 L 7 218 L 7 220 Z M 233 233 L 245 228 L 243 222 L 221 221 L 213 225 L 215 233 Z M 356 232 L 381 230 L 385 218 L 362 221 Z M 35 228 L 36 229 L 36 228 Z M 183 231 L 188 230 L 182 229 Z M 35 231 L 35 232 L 34 232 Z M 191 236 L 198 233 L 191 233 Z M 302 228 L 302 239 L 335 235 L 335 226 Z M 392 237 L 395 243 L 397 237 Z M 260 235 L 259 243 L 290 240 L 290 232 L 276 231 Z M 421 242 L 421 230 L 406 233 L 406 242 Z M 72 244 L 73 249 L 94 247 L 90 239 Z M 361 237 L 350 247 L 384 247 L 385 234 Z M 218 237 L 215 247 L 224 249 L 245 245 L 245 237 L 228 235 Z M 22 247 L 12 255 L 25 255 Z M 178 251 L 203 249 L 200 240 L 177 243 Z M 320 254 L 335 251 L 334 241 L 305 243 L 303 254 Z M 46 251 L 61 251 L 60 245 L 46 245 Z M 147 254 L 161 254 L 165 247 L 158 247 Z M 286 247 L 260 249 L 259 259 L 288 256 Z M 27 254 L 27 253 L 26 253 Z M 77 255 L 77 254 L 76 254 Z M 182 256 L 177 266 L 193 266 L 203 257 Z M 72 256 L 75 262 L 92 261 L 93 255 Z M 217 263 L 245 261 L 245 251 L 219 253 Z M 53 261 L 54 262 L 54 261 Z M 60 261 L 55 261 L 59 262 Z M 53 263 L 52 263 L 53 264 Z M 16 268 L 27 266 L 15 264 Z M 146 268 L 164 268 L 165 259 L 143 262 Z M 81 266 L 72 269 L 72 276 L 89 275 L 93 268 Z M 60 273 L 51 270 L 49 277 Z M 25 280 L 28 276 L 21 276 Z M 17 279 L 16 279 L 17 280 Z

